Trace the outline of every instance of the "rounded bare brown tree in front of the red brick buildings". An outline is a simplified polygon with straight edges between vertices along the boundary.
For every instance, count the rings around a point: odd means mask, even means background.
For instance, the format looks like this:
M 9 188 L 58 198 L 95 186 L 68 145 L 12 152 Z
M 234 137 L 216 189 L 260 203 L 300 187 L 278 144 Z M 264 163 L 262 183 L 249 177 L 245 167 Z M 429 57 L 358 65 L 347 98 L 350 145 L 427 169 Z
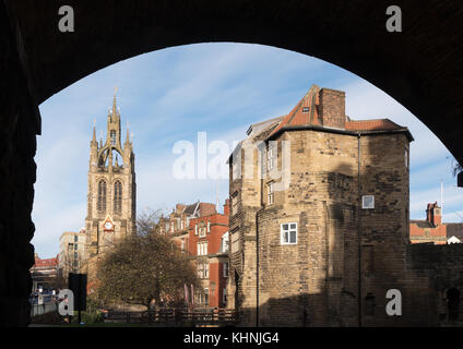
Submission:
M 198 287 L 194 266 L 169 238 L 155 233 L 158 215 L 141 215 L 138 233 L 115 244 L 98 266 L 98 297 L 106 303 L 178 301 L 183 284 Z

